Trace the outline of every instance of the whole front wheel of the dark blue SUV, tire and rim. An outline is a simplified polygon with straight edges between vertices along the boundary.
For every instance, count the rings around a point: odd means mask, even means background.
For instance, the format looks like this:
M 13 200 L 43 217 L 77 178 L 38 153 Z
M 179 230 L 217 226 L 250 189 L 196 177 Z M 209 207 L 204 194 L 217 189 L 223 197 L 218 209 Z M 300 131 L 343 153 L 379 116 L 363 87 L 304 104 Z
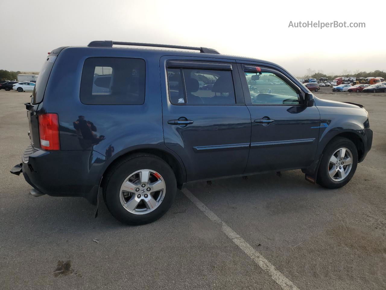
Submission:
M 320 161 L 317 183 L 325 188 L 340 188 L 354 176 L 358 151 L 347 138 L 335 138 L 327 144 Z

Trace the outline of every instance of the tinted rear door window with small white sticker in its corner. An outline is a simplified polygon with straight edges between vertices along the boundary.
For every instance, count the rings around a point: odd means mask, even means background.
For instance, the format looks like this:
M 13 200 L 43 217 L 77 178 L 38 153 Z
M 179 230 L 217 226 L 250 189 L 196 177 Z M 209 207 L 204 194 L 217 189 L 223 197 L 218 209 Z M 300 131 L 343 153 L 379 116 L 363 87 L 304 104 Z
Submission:
M 172 104 L 227 105 L 236 103 L 232 72 L 229 70 L 168 68 L 168 83 Z

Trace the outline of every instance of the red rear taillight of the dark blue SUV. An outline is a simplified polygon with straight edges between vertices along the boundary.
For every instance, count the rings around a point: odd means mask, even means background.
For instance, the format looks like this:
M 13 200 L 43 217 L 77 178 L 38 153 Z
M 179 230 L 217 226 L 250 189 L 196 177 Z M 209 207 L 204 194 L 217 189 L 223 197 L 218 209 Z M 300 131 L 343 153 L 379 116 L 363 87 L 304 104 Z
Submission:
M 58 114 L 39 115 L 40 148 L 44 150 L 59 150 Z

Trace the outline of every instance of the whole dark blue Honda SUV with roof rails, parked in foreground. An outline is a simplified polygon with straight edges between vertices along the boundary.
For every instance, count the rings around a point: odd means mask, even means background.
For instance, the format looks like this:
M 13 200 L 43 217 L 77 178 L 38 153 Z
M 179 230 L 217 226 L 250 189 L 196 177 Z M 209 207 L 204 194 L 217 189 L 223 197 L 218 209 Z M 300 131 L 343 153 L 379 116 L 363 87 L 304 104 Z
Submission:
M 11 172 L 34 196 L 97 205 L 102 188 L 128 224 L 161 217 L 191 181 L 301 169 L 339 188 L 372 143 L 363 106 L 318 99 L 274 63 L 208 48 L 54 49 L 25 106 L 31 142 Z

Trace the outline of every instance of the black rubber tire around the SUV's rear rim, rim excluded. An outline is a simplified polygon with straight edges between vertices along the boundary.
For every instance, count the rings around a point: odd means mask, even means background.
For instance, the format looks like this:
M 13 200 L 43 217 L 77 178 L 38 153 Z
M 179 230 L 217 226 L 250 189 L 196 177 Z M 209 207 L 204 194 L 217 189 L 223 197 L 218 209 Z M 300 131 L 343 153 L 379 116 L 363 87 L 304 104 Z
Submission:
M 120 201 L 120 187 L 130 174 L 141 169 L 151 169 L 163 177 L 166 191 L 161 204 L 144 215 L 127 211 Z M 162 217 L 173 204 L 177 192 L 177 182 L 173 170 L 164 160 L 152 154 L 134 154 L 120 160 L 108 172 L 104 186 L 103 198 L 110 213 L 120 222 L 128 225 L 143 225 Z

